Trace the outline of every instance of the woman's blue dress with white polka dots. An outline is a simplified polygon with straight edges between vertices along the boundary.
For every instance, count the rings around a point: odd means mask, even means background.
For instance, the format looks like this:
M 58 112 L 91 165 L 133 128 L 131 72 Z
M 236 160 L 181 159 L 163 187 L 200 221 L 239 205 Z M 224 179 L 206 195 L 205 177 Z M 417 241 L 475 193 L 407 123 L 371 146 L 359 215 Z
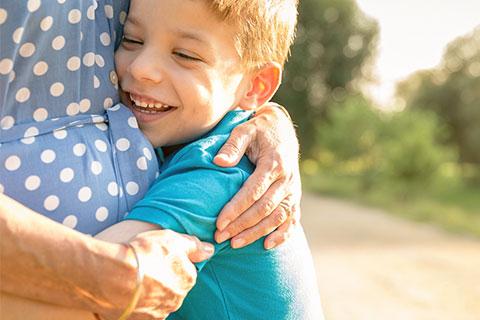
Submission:
M 119 104 L 123 0 L 0 2 L 0 192 L 78 231 L 120 221 L 158 174 Z

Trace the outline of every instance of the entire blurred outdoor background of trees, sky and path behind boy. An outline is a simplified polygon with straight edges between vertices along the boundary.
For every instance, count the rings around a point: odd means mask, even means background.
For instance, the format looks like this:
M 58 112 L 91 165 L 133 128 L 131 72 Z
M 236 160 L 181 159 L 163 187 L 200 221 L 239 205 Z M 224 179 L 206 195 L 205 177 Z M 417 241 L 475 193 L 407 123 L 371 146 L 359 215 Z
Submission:
M 274 101 L 327 319 L 480 319 L 480 1 L 300 0 Z

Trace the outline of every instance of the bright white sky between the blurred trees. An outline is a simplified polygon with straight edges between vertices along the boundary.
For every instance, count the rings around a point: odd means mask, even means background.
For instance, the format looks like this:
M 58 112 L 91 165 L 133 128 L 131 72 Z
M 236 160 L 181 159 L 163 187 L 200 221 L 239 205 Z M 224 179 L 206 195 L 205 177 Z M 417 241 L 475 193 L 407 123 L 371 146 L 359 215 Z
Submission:
M 395 108 L 395 83 L 431 69 L 446 45 L 480 25 L 480 0 L 356 0 L 380 25 L 376 73 L 366 93 L 385 109 Z

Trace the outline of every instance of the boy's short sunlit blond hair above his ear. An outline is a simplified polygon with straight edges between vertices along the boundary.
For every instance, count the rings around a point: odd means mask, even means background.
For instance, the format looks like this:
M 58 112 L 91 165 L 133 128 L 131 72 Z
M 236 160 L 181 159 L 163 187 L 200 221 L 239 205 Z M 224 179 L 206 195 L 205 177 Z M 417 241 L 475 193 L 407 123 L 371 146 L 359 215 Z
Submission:
M 236 28 L 235 48 L 247 68 L 281 66 L 295 37 L 298 0 L 203 0 Z

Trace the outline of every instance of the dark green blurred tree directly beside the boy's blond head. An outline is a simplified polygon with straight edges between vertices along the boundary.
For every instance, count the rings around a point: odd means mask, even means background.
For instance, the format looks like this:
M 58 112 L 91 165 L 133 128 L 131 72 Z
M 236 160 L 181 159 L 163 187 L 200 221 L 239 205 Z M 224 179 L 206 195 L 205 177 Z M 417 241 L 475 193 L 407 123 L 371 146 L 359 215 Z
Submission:
M 275 101 L 298 124 L 302 154 L 316 145 L 316 127 L 329 101 L 343 100 L 353 80 L 368 76 L 378 24 L 354 0 L 302 0 L 297 38 Z

